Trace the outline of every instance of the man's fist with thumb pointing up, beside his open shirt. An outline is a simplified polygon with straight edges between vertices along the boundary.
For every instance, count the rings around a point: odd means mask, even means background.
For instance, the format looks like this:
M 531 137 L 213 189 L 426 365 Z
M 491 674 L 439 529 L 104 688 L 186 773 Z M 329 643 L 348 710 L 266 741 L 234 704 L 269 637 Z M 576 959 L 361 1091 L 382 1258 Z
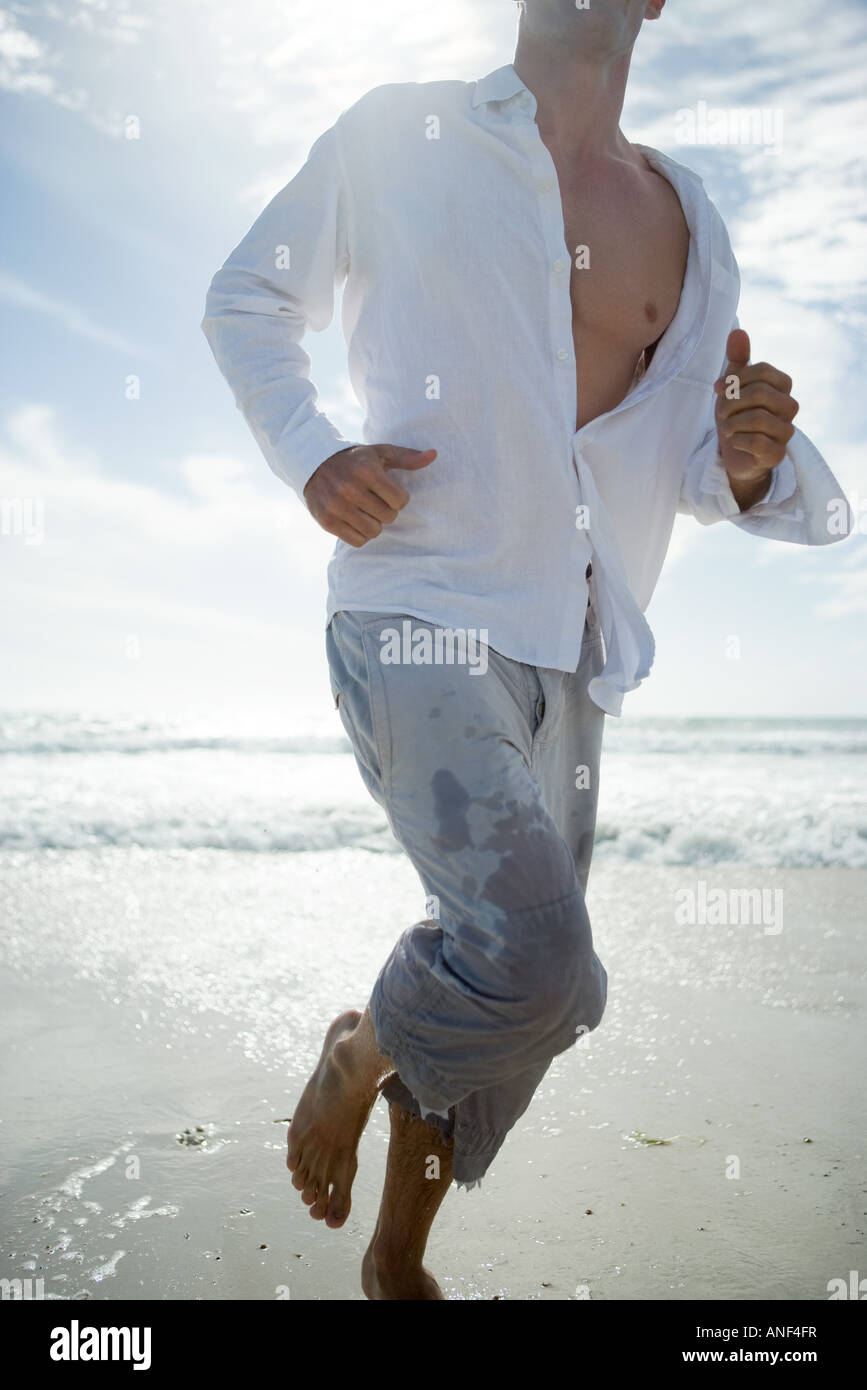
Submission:
M 792 378 L 767 361 L 750 366 L 749 334 L 734 328 L 725 343 L 725 371 L 714 382 L 720 455 L 741 510 L 764 496 L 782 463 L 800 406 Z

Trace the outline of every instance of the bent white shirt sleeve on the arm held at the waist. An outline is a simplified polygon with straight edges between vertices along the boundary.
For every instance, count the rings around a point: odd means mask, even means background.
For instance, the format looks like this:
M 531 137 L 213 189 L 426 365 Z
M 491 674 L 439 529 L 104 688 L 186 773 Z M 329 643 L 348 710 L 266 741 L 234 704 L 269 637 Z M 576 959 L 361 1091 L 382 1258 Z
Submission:
M 214 275 L 201 329 L 270 467 L 303 498 L 345 439 L 317 409 L 308 328 L 327 328 L 349 270 L 347 188 L 339 131 L 325 131 L 306 164 L 264 208 Z

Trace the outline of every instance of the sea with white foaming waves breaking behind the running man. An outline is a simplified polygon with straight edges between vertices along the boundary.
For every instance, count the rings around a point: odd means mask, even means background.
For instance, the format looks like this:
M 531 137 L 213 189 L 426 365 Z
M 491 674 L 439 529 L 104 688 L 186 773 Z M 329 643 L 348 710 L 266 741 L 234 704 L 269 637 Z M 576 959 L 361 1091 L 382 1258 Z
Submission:
M 867 867 L 867 720 L 609 720 L 595 862 Z M 0 714 L 0 851 L 400 853 L 335 712 Z

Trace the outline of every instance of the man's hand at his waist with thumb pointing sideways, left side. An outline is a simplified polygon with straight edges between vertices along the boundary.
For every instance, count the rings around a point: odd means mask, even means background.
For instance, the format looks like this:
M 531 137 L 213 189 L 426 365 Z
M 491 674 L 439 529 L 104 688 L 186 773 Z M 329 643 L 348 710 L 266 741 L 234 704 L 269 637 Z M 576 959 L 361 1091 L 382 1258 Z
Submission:
M 353 445 L 321 463 L 304 488 L 307 510 L 324 531 L 360 548 L 390 525 L 410 493 L 389 477 L 390 468 L 427 468 L 436 449 L 395 443 Z

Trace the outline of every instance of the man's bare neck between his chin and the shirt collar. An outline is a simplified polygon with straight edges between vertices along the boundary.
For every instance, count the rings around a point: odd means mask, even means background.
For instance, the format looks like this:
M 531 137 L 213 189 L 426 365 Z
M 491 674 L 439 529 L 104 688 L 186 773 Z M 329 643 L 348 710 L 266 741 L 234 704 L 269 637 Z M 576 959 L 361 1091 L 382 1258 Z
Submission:
M 521 35 L 513 67 L 536 99 L 536 125 L 568 157 L 627 156 L 620 129 L 631 54 L 588 58 L 540 47 Z

